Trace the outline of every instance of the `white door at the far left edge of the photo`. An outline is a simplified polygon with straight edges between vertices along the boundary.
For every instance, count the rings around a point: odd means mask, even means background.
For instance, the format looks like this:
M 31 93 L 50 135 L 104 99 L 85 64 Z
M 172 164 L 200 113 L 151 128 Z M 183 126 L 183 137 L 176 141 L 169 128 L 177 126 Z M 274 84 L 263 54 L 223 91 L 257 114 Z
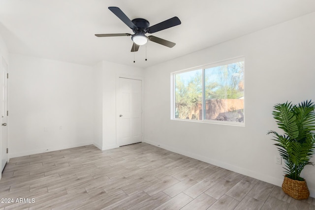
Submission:
M 1 58 L 2 64 L 1 64 L 1 137 L 2 137 L 2 157 L 1 157 L 1 172 L 4 169 L 4 166 L 6 162 L 8 161 L 8 154 L 7 154 L 7 148 L 8 148 L 8 132 L 7 132 L 7 99 L 8 99 L 8 65 L 6 61 Z

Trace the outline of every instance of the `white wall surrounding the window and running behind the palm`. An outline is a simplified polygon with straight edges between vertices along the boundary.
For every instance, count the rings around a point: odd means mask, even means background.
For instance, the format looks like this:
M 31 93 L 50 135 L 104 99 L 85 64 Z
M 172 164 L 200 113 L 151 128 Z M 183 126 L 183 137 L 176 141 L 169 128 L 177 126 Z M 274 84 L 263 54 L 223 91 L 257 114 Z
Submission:
M 314 37 L 312 13 L 145 69 L 144 141 L 281 185 L 266 133 L 277 127 L 276 103 L 315 101 Z M 238 56 L 245 56 L 245 127 L 170 120 L 171 72 Z M 302 176 L 315 197 L 315 167 Z

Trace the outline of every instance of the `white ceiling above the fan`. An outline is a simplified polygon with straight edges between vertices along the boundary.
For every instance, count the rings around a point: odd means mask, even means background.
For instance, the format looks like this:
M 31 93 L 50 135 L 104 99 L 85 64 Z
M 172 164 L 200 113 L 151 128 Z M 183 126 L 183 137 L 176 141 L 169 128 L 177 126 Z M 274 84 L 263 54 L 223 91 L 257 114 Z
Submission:
M 134 54 L 130 36 L 96 37 L 132 33 L 109 6 L 151 26 L 179 17 L 181 25 L 153 34 L 175 47 L 148 42 Z M 315 0 L 0 0 L 0 34 L 10 53 L 148 67 L 314 11 Z

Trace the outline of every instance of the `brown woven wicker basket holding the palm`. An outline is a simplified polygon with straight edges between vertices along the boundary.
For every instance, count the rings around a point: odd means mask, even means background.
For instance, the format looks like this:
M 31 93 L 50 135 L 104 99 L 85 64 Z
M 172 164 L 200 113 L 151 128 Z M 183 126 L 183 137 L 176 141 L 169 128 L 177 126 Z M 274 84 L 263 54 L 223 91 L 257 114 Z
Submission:
M 310 191 L 305 180 L 291 180 L 284 177 L 282 189 L 286 194 L 297 200 L 307 199 L 310 196 Z

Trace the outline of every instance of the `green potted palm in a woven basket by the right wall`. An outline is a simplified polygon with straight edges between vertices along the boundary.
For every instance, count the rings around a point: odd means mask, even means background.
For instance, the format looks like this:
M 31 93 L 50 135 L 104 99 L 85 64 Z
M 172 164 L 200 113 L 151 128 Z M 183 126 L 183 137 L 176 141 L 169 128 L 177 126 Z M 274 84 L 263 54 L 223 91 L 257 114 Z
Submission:
M 284 160 L 284 182 L 282 189 L 291 197 L 302 200 L 310 196 L 306 181 L 300 174 L 315 153 L 315 105 L 303 101 L 298 105 L 291 102 L 274 106 L 272 115 L 283 135 L 271 130 L 277 149 Z

